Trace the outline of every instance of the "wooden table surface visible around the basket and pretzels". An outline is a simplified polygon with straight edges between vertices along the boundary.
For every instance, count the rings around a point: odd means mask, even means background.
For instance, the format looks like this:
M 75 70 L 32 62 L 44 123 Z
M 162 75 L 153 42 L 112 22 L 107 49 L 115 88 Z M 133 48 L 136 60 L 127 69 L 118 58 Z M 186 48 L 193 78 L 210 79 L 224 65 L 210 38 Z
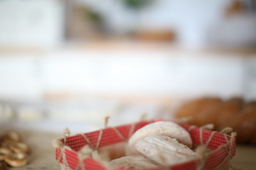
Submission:
M 32 153 L 29 162 L 21 168 L 10 168 L 10 170 L 59 170 L 60 165 L 55 160 L 55 149 L 51 142 L 62 137 L 62 134 L 47 132 L 21 131 L 23 141 L 31 146 Z M 256 169 L 256 146 L 237 145 L 236 155 L 231 161 L 235 169 Z

